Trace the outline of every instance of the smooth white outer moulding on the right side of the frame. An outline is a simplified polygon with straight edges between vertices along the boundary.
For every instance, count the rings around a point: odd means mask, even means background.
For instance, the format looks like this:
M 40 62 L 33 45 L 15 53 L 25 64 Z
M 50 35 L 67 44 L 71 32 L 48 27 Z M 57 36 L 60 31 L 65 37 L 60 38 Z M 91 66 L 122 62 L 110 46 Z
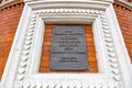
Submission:
M 112 14 L 108 14 L 108 19 L 110 22 L 110 28 L 111 28 L 111 33 L 113 36 L 113 41 L 114 41 L 114 46 L 116 46 L 116 52 L 117 52 L 117 56 L 118 56 L 118 61 L 120 63 L 120 70 L 122 72 L 122 78 L 123 78 L 123 82 L 125 84 L 127 88 L 132 88 L 132 85 L 130 85 L 132 82 L 132 68 L 131 68 L 131 62 L 130 62 L 130 57 L 124 44 L 124 40 L 123 40 L 123 35 L 121 33 L 120 26 L 118 24 L 118 21 L 116 19 L 116 13 L 114 13 L 114 9 L 112 6 L 110 6 L 111 8 L 108 8 L 109 10 L 107 10 L 109 13 Z M 112 18 L 112 19 L 110 19 Z M 114 20 L 114 21 L 112 21 Z M 114 25 L 114 26 L 112 26 Z

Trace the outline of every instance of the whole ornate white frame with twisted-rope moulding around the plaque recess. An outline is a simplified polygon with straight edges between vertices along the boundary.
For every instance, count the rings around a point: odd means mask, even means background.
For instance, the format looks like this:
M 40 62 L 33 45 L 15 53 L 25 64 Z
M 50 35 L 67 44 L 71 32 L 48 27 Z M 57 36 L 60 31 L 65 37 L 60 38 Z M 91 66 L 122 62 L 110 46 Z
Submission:
M 99 73 L 40 74 L 45 23 L 92 23 Z M 131 64 L 112 0 L 40 0 L 25 2 L 1 87 L 132 88 L 131 76 Z

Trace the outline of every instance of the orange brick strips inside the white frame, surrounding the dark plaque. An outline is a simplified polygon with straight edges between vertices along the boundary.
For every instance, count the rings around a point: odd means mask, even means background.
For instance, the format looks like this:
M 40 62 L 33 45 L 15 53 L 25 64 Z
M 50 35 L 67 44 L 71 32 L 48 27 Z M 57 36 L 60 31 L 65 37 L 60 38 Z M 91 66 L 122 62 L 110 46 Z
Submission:
M 86 44 L 87 44 L 87 50 L 88 50 L 89 70 L 66 72 L 66 73 L 98 73 L 92 29 L 91 29 L 91 25 L 84 25 L 84 26 L 85 26 L 85 33 L 86 33 Z M 44 43 L 43 43 L 42 59 L 41 59 L 41 65 L 40 65 L 40 73 L 64 73 L 59 70 L 57 72 L 50 70 L 50 59 L 51 59 L 50 56 L 51 56 L 51 45 L 52 45 L 51 40 L 52 40 L 53 25 L 47 24 L 45 29 L 46 30 L 44 34 Z

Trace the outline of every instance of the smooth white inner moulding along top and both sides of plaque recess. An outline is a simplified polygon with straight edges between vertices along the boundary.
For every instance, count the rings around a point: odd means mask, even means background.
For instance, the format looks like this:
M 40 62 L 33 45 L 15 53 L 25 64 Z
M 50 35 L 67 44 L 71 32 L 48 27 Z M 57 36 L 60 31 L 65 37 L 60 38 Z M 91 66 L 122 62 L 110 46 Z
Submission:
M 84 15 L 84 14 L 82 14 Z M 53 16 L 53 18 L 51 18 L 51 16 Z M 82 18 L 85 16 L 85 22 L 84 22 L 84 20 L 82 20 Z M 42 50 L 42 48 L 36 48 L 36 47 L 42 47 L 42 41 L 38 41 L 38 38 L 43 38 L 43 32 L 44 32 L 44 29 L 43 28 L 41 28 L 42 26 L 42 24 L 44 24 L 44 23 L 41 23 L 42 21 L 44 21 L 45 23 L 59 23 L 59 24 L 64 24 L 64 23 L 68 23 L 68 24 L 76 24 L 77 23 L 77 20 L 79 21 L 78 23 L 81 23 L 81 24 L 85 24 L 87 21 L 89 22 L 89 21 L 91 21 L 91 20 L 89 20 L 89 19 L 86 19 L 86 18 L 89 18 L 88 15 L 84 15 L 82 18 L 81 16 L 78 16 L 78 15 L 73 15 L 73 14 L 70 14 L 70 19 L 68 19 L 68 15 L 67 16 L 65 16 L 65 15 L 59 15 L 59 18 L 57 16 L 55 16 L 55 15 L 48 15 L 48 14 L 46 14 L 46 18 L 48 18 L 48 20 L 45 20 L 44 18 L 45 16 L 41 16 L 42 19 L 40 19 L 38 18 L 38 20 L 37 20 L 37 26 L 40 26 L 40 30 L 37 30 L 37 32 L 38 33 L 36 33 L 35 32 L 35 34 L 34 35 L 36 35 L 35 37 L 36 38 L 34 38 L 34 43 L 35 43 L 35 45 L 33 44 L 33 47 L 34 47 L 34 51 L 33 51 L 33 53 L 31 53 L 33 56 L 31 57 L 33 61 L 34 59 L 40 59 L 40 57 L 41 57 L 41 54 L 40 54 L 40 51 Z M 54 18 L 56 18 L 56 19 L 54 19 Z M 65 20 L 65 18 L 68 20 L 68 21 L 66 21 Z M 98 18 L 96 19 L 97 16 L 92 16 L 92 21 L 94 21 L 94 26 L 96 26 L 96 28 L 94 28 L 94 35 L 96 36 L 96 35 L 99 35 L 98 33 L 100 33 L 101 32 L 101 28 L 99 26 L 98 28 L 98 23 L 99 23 L 99 20 L 98 20 Z M 52 19 L 52 20 L 51 20 Z M 58 19 L 62 19 L 62 21 L 59 21 Z M 96 20 L 94 20 L 94 19 L 96 19 Z M 47 21 L 47 22 L 46 22 Z M 90 22 L 91 23 L 91 22 Z M 42 29 L 42 30 L 41 30 Z M 41 37 L 40 37 L 41 36 Z M 101 36 L 101 33 L 100 33 L 100 35 L 99 36 Z M 99 63 L 99 65 L 100 65 L 100 67 L 105 67 L 106 65 L 103 65 L 103 64 L 101 64 L 102 63 L 102 58 L 103 58 L 103 61 L 106 61 L 106 58 L 105 58 L 105 52 L 106 51 L 103 51 L 103 45 L 101 45 L 101 47 L 100 47 L 100 45 L 99 44 L 101 44 L 103 41 L 101 40 L 101 37 L 98 37 L 98 36 L 96 36 L 95 38 L 100 38 L 100 41 L 98 41 L 98 43 L 96 43 L 95 45 L 98 45 L 97 47 L 99 48 L 99 50 L 97 50 L 97 52 L 98 52 L 98 54 L 100 54 L 100 57 L 98 57 L 98 61 L 100 59 L 100 63 Z M 38 51 L 36 51 L 36 50 L 38 50 Z M 99 53 L 99 52 L 102 52 L 103 51 L 103 53 Z M 35 57 L 36 55 L 38 55 L 37 57 Z M 34 62 L 37 62 L 37 61 L 34 61 Z M 29 69 L 32 74 L 34 74 L 34 73 L 37 73 L 38 70 L 37 69 L 35 69 L 37 66 L 40 66 L 38 65 L 38 63 L 35 65 L 36 63 L 30 63 L 30 65 L 31 65 L 31 67 L 32 67 L 32 69 Z M 107 64 L 107 63 L 106 63 Z M 99 69 L 100 69 L 100 72 L 105 72 L 105 68 L 100 68 L 99 67 Z M 103 70 L 102 70 L 103 69 Z M 34 72 L 35 70 L 35 72 Z M 107 72 L 107 69 L 106 69 L 106 72 Z M 46 77 L 46 76 L 45 76 Z

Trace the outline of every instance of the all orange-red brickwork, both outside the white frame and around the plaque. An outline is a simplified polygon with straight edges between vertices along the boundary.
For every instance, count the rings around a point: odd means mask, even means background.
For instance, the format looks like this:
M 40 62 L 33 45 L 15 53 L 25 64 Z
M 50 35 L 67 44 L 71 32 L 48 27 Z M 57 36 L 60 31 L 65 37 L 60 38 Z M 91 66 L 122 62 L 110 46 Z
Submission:
M 0 0 L 0 2 L 2 0 Z M 132 0 L 129 1 L 132 2 Z M 0 7 L 0 79 L 7 63 L 7 58 L 15 34 L 15 30 L 18 28 L 18 23 L 20 21 L 23 6 L 24 3 L 22 2 L 22 0 L 16 0 L 15 2 L 11 2 Z M 132 8 L 118 1 L 114 2 L 113 7 L 132 62 Z M 53 25 L 46 25 L 40 73 L 56 73 L 48 70 L 52 28 Z M 86 37 L 88 44 L 87 47 L 89 50 L 88 64 L 90 66 L 90 69 L 89 72 L 85 73 L 97 73 L 98 67 L 96 51 L 94 46 L 94 37 L 92 35 L 87 36 L 89 34 L 92 34 L 91 26 L 87 25 L 86 29 L 88 31 L 88 32 L 86 31 L 88 33 L 86 34 Z

